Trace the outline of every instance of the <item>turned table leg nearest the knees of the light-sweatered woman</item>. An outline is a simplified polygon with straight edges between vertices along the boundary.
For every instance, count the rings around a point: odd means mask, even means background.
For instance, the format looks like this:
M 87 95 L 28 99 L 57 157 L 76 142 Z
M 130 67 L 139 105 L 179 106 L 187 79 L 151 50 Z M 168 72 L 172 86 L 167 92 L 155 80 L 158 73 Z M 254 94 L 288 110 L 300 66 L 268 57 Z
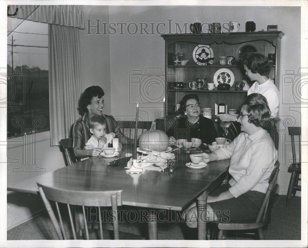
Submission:
M 198 239 L 206 240 L 206 198 L 207 193 L 203 193 L 197 198 L 197 227 L 198 227 Z M 202 218 L 201 218 L 202 215 Z

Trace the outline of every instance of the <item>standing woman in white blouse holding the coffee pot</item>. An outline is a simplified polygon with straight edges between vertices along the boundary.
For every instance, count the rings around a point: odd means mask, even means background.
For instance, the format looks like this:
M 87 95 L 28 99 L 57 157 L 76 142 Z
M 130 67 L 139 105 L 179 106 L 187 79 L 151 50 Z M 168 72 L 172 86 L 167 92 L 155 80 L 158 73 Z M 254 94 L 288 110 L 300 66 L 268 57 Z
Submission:
M 279 91 L 274 84 L 274 80 L 268 76 L 271 63 L 261 53 L 244 53 L 241 57 L 247 77 L 255 81 L 247 92 L 247 96 L 252 93 L 260 93 L 265 96 L 271 111 L 272 118 L 277 116 L 279 110 Z M 237 121 L 237 114 L 219 114 L 217 117 L 221 121 Z

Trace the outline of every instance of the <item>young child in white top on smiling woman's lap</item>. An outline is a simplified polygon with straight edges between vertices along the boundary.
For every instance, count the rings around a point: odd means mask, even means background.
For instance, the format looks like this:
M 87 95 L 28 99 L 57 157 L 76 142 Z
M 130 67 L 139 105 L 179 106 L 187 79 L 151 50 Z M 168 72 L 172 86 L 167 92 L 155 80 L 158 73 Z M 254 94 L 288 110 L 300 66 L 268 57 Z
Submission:
M 93 134 L 87 141 L 84 149 L 91 150 L 93 148 L 107 148 L 111 144 L 115 133 L 106 133 L 106 123 L 100 116 L 93 116 L 89 120 L 90 132 Z

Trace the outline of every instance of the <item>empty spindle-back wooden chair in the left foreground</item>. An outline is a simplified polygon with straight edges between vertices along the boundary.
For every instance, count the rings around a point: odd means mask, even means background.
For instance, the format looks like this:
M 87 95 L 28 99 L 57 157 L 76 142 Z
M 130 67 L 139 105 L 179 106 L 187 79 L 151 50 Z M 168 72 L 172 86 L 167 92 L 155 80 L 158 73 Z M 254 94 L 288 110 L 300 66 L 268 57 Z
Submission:
M 76 191 L 66 190 L 56 187 L 50 187 L 43 183 L 37 183 L 39 186 L 39 193 L 43 199 L 45 207 L 48 211 L 49 217 L 55 227 L 59 239 L 144 239 L 139 235 L 129 234 L 119 231 L 118 223 L 118 209 L 117 206 L 122 205 L 122 190 L 118 191 Z M 58 218 L 55 217 L 55 213 L 49 202 L 55 201 L 56 209 L 58 212 Z M 63 219 L 60 213 L 58 203 L 66 203 L 68 214 L 71 223 L 71 229 L 73 236 L 70 238 L 65 233 Z M 95 206 L 99 209 L 99 229 L 88 229 L 87 225 L 84 225 L 84 229 L 76 231 L 73 221 L 73 215 L 71 212 L 71 205 L 82 206 L 83 220 L 86 222 L 85 206 Z M 115 217 L 113 224 L 113 230 L 105 230 L 102 228 L 102 216 L 101 207 L 112 207 L 112 218 Z

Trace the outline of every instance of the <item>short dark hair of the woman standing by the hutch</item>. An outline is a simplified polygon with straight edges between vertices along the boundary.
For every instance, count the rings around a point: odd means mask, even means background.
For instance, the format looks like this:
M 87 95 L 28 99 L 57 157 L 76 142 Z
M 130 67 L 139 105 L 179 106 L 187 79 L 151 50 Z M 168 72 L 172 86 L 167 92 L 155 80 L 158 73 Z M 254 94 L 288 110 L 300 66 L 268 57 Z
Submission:
M 268 76 L 272 66 L 268 58 L 261 53 L 244 53 L 241 61 L 252 73 L 259 73 L 261 76 Z

